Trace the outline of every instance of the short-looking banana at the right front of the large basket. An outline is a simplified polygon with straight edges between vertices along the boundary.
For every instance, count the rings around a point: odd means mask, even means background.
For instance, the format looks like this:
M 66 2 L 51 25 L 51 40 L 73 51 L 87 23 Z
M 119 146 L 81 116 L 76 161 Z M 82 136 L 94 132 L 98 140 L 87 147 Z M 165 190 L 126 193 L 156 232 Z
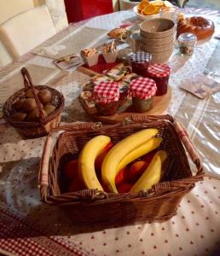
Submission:
M 159 183 L 162 164 L 167 158 L 164 150 L 159 150 L 153 156 L 148 168 L 143 172 L 142 176 L 130 189 L 130 192 L 139 192 L 141 190 L 150 189 L 155 183 Z

